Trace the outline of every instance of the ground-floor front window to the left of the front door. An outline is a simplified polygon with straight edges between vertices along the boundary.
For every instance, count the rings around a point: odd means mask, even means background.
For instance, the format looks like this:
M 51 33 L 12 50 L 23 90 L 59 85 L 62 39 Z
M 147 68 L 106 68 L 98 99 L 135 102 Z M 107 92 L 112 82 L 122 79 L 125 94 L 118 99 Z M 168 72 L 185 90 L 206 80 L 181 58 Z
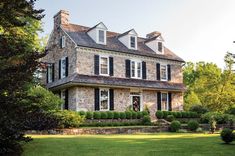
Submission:
M 109 110 L 109 89 L 100 89 L 100 110 Z

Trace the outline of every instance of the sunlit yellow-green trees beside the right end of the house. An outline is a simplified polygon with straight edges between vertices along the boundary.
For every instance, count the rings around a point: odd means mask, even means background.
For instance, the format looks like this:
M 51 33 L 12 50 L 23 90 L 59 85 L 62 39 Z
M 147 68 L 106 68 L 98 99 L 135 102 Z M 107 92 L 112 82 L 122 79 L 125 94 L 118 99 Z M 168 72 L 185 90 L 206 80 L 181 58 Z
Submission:
M 235 103 L 235 75 L 232 71 L 234 62 L 230 53 L 225 55 L 225 70 L 213 63 L 187 63 L 184 67 L 185 108 L 201 103 L 211 111 L 224 112 Z

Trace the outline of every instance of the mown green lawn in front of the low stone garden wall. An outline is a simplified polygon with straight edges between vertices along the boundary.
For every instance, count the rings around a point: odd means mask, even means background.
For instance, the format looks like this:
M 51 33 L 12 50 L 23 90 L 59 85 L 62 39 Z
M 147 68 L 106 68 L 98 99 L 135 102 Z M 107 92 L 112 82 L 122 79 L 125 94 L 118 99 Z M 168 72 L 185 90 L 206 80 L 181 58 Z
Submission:
M 33 135 L 23 156 L 234 156 L 218 134 Z

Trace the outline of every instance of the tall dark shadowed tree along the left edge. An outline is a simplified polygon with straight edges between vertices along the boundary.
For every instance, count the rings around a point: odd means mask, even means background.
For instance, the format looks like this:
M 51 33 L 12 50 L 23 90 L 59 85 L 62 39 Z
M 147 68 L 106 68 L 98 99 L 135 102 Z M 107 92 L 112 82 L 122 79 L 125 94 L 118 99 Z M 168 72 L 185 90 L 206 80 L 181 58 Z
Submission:
M 38 31 L 43 10 L 35 0 L 0 0 L 0 155 L 20 155 L 28 84 L 39 67 Z

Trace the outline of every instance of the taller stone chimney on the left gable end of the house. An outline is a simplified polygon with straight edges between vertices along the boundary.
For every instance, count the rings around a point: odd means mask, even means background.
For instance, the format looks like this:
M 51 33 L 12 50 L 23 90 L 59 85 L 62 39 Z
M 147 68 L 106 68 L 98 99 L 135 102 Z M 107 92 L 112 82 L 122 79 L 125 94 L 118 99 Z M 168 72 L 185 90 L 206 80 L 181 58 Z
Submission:
M 54 16 L 54 29 L 57 29 L 61 24 L 69 24 L 69 12 L 66 10 L 60 10 Z

